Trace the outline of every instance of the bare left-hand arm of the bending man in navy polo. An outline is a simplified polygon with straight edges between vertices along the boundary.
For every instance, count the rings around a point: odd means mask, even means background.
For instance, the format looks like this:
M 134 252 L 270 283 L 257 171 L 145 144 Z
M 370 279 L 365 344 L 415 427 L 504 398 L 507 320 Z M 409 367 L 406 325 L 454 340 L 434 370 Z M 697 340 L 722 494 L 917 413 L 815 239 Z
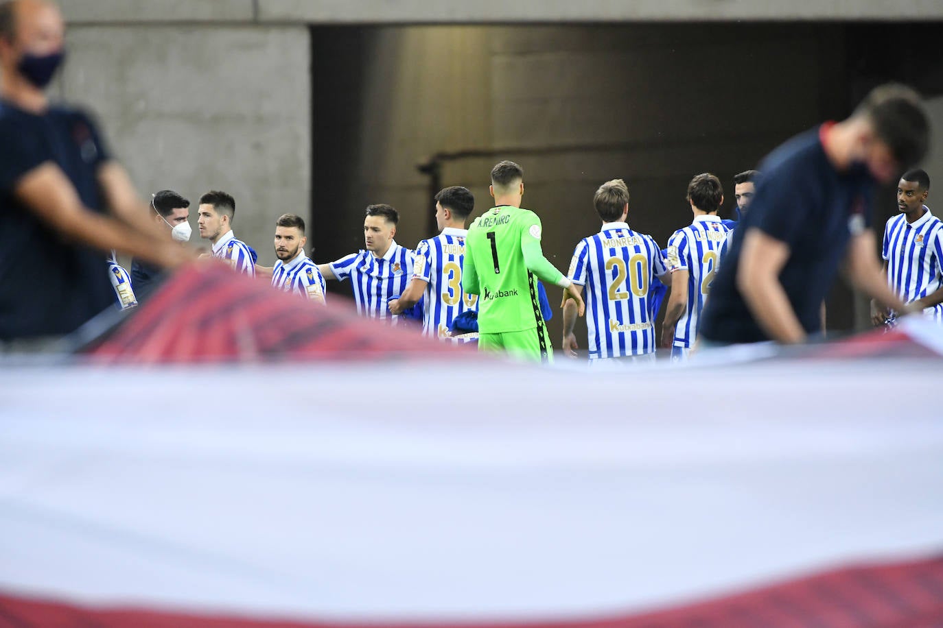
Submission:
M 763 231 L 751 227 L 743 234 L 743 249 L 736 273 L 736 287 L 757 324 L 773 340 L 801 343 L 805 330 L 789 303 L 779 274 L 789 259 L 790 248 Z

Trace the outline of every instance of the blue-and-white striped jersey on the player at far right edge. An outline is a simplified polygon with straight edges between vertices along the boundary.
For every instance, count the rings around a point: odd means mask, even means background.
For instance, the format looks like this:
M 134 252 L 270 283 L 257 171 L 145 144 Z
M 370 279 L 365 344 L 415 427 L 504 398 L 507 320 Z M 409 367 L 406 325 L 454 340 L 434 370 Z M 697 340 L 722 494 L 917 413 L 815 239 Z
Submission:
M 933 294 L 943 285 L 943 220 L 923 206 L 913 223 L 903 214 L 885 225 L 882 255 L 887 261 L 887 282 L 902 301 L 910 303 Z M 943 322 L 943 303 L 923 314 Z

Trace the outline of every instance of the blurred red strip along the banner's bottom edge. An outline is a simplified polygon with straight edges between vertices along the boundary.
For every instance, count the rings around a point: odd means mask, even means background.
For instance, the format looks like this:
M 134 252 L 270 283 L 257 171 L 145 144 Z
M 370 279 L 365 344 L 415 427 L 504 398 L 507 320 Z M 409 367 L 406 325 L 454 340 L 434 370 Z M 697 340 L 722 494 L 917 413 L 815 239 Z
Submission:
M 645 614 L 521 623 L 246 619 L 143 607 L 87 607 L 0 594 L 0 626 L 21 628 L 918 628 L 943 626 L 943 557 L 825 572 Z

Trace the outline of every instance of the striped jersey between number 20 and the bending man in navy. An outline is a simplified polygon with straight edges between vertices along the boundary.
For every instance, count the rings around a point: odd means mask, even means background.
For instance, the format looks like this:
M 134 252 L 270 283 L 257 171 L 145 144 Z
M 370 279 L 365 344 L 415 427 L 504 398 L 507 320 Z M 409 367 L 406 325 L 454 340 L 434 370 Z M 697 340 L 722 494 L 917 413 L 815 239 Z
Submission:
M 698 216 L 668 240 L 669 270 L 687 270 L 687 310 L 674 328 L 672 346 L 694 345 L 704 299 L 720 267 L 720 258 L 727 251 L 730 231 L 718 216 Z

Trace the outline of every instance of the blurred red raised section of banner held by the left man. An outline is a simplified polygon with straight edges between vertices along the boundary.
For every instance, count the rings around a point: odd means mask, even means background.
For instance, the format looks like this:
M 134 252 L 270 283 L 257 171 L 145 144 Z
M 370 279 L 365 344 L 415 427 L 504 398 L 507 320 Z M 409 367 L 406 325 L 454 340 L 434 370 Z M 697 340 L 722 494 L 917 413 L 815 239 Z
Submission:
M 468 351 L 356 314 L 346 299 L 319 307 L 216 263 L 174 275 L 89 353 L 102 362 L 351 360 Z M 467 357 L 467 356 L 465 356 Z

